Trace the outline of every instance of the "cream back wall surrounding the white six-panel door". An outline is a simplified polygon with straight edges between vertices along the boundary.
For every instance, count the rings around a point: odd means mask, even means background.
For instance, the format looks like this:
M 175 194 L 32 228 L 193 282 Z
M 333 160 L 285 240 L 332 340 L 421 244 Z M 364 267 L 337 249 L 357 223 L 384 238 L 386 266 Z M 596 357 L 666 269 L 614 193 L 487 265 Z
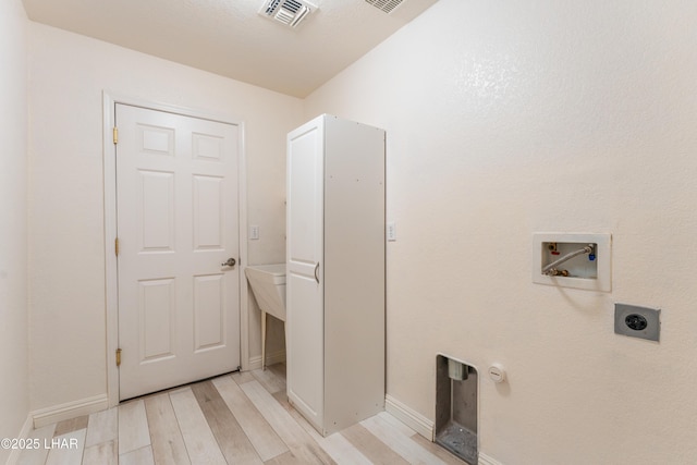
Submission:
M 262 234 L 252 264 L 284 259 L 285 134 L 302 102 L 35 23 L 29 53 L 30 399 L 42 409 L 107 392 L 102 90 L 244 121 L 248 221 Z

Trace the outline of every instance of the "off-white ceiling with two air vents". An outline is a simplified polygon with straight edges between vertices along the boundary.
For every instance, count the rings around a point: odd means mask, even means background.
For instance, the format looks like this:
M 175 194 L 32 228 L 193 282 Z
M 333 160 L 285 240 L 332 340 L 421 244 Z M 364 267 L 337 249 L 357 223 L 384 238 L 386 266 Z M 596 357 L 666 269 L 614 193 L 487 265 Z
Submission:
M 295 97 L 305 97 L 437 0 L 387 14 L 365 0 L 310 0 L 291 29 L 264 0 L 23 0 L 27 15 L 96 39 Z

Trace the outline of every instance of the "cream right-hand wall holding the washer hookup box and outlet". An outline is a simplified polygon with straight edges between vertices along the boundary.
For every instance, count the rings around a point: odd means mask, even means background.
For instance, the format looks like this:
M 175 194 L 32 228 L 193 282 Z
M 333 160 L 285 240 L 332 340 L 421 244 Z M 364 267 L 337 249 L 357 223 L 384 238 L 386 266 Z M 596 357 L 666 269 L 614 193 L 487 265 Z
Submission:
M 504 464 L 694 462 L 695 17 L 440 0 L 306 99 L 388 132 L 390 395 L 432 419 L 442 352 L 479 368 Z M 612 233 L 612 292 L 533 284 L 548 231 Z M 615 302 L 662 308 L 661 342 L 615 335 Z

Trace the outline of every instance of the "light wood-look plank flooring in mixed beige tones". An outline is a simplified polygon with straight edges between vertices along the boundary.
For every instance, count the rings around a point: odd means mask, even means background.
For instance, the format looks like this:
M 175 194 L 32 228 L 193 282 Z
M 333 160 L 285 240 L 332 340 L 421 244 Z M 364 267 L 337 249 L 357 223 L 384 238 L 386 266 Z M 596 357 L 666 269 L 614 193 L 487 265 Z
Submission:
M 288 403 L 285 367 L 235 372 L 36 429 L 20 464 L 452 464 L 388 413 L 322 438 Z

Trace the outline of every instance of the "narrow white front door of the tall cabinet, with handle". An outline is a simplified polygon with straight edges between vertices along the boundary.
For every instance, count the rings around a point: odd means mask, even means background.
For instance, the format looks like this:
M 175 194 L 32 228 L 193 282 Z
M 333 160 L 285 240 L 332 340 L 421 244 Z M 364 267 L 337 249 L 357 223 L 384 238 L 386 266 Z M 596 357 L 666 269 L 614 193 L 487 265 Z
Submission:
M 323 415 L 323 118 L 288 136 L 288 394 L 318 429 Z

